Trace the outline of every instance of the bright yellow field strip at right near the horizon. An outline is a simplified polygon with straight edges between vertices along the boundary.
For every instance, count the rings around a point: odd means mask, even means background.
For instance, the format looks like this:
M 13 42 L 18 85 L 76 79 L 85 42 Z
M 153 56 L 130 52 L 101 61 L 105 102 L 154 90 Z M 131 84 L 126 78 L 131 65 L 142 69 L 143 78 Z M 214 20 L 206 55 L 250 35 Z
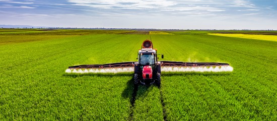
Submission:
M 209 34 L 209 35 L 217 35 L 217 36 L 227 36 L 227 37 L 239 37 L 239 38 L 247 38 L 247 39 L 260 39 L 260 40 L 269 40 L 269 41 L 277 41 L 276 35 L 252 35 L 252 34 Z

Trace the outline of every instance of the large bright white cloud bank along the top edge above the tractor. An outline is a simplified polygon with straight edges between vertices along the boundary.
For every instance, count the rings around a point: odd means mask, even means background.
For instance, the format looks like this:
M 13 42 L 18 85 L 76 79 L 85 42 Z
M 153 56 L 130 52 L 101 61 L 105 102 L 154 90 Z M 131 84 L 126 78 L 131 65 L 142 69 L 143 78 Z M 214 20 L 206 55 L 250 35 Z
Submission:
M 210 0 L 210 1 L 201 1 L 201 0 L 67 0 L 67 2 L 73 3 L 72 5 L 76 6 L 87 6 L 96 9 L 129 9 L 129 10 L 147 10 L 155 12 L 170 12 L 170 11 L 209 11 L 209 12 L 224 12 L 233 7 L 237 8 L 251 8 L 254 9 L 255 5 L 245 0 Z

